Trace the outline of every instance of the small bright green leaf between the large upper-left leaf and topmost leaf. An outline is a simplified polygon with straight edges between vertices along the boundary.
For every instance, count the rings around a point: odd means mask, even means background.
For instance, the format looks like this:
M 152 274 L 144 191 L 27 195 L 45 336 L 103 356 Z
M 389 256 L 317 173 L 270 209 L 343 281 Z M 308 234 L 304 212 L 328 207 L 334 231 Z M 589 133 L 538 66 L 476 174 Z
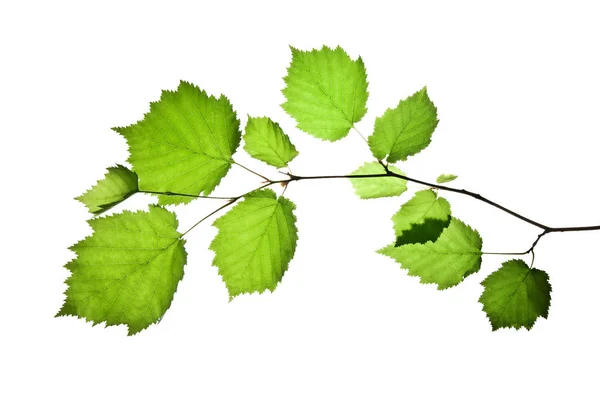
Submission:
M 277 168 L 287 166 L 298 156 L 290 138 L 268 117 L 248 117 L 244 143 L 250 156 Z

